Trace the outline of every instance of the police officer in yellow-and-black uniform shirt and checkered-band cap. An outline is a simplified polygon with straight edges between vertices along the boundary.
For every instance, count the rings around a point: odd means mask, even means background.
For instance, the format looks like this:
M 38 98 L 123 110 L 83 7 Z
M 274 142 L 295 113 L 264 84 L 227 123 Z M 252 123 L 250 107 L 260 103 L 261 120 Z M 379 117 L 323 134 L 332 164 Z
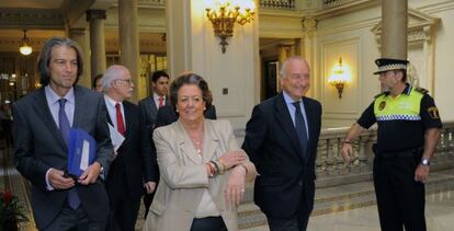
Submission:
M 424 182 L 442 127 L 428 91 L 406 83 L 407 60 L 375 61 L 383 93 L 350 128 L 342 146 L 347 162 L 361 131 L 377 123 L 374 186 L 383 231 L 425 231 Z

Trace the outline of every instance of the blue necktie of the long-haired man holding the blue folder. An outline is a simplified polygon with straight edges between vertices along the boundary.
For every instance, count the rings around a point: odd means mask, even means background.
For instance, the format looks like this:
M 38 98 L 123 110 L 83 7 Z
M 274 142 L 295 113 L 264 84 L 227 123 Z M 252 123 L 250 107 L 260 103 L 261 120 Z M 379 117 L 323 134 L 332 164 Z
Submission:
M 64 138 L 66 145 L 68 145 L 69 129 L 71 126 L 69 125 L 69 119 L 65 112 L 66 101 L 66 99 L 58 100 L 58 103 L 60 104 L 60 108 L 58 109 L 58 127 L 60 128 L 61 137 Z M 80 198 L 79 195 L 77 195 L 76 187 L 68 190 L 68 204 L 72 209 L 77 209 L 80 205 Z

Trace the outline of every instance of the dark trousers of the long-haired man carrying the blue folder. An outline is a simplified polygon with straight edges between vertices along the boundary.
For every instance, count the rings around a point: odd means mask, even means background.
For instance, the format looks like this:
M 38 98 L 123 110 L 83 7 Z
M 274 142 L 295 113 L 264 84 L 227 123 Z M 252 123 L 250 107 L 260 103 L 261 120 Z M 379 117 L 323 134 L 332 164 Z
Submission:
M 106 221 L 93 222 L 82 206 L 73 210 L 65 203 L 60 213 L 42 231 L 104 231 Z

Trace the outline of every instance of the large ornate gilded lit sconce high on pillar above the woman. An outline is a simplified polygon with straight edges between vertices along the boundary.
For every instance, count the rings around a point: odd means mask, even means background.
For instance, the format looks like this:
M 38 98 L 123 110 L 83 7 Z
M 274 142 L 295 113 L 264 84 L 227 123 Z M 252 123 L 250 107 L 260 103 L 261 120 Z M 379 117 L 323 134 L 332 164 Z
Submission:
M 214 33 L 220 38 L 223 54 L 228 45 L 227 38 L 234 36 L 235 23 L 245 25 L 253 21 L 256 3 L 253 0 L 207 0 L 206 16 L 213 24 Z

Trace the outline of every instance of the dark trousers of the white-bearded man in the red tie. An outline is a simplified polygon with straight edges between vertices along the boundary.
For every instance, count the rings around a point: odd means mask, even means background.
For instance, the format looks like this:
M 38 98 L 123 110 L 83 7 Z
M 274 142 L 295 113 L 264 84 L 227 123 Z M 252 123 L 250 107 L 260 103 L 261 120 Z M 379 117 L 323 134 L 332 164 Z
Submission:
M 140 207 L 140 197 L 129 195 L 126 175 L 120 169 L 111 170 L 106 183 L 109 195 L 109 231 L 134 231 Z

